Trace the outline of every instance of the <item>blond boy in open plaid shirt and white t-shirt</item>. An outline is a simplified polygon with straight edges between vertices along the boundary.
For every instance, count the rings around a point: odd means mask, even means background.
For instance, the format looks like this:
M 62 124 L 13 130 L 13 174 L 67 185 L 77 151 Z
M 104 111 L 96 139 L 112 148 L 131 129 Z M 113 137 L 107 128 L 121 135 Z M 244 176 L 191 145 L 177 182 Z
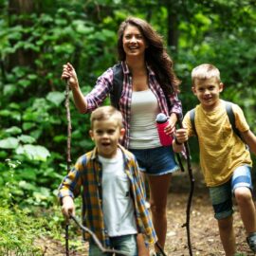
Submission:
M 156 242 L 155 229 L 145 206 L 142 180 L 135 156 L 119 145 L 124 135 L 122 116 L 112 106 L 91 115 L 90 136 L 96 147 L 82 155 L 59 189 L 65 216 L 75 214 L 74 197 L 82 191 L 85 225 L 104 247 L 139 255 L 137 235 Z M 89 239 L 89 255 L 103 255 Z

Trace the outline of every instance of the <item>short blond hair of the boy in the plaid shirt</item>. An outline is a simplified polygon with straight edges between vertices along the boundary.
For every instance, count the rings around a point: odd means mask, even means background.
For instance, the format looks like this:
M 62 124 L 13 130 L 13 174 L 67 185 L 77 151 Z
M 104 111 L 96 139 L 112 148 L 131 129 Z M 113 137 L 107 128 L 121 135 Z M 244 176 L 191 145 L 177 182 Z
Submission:
M 117 120 L 119 127 L 122 127 L 122 116 L 118 109 L 113 106 L 101 106 L 94 110 L 91 114 L 90 122 L 91 128 L 93 128 L 93 124 L 96 120 L 106 120 L 114 118 Z

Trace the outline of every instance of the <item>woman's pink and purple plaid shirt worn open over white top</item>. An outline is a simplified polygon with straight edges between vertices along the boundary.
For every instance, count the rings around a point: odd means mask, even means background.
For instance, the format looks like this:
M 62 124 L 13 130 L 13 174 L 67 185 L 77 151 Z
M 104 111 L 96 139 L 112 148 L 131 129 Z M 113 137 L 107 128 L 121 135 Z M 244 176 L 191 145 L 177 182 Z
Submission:
M 123 117 L 123 127 L 125 129 L 125 135 L 122 139 L 121 144 L 128 149 L 129 148 L 129 137 L 130 137 L 130 120 L 131 120 L 131 100 L 133 93 L 132 86 L 132 74 L 128 68 L 128 65 L 125 62 L 122 62 L 123 69 L 123 88 L 121 97 L 119 100 L 119 110 Z M 181 101 L 178 100 L 177 94 L 174 93 L 169 95 L 169 99 L 171 101 L 172 108 L 169 111 L 168 103 L 166 101 L 166 97 L 164 92 L 156 81 L 154 71 L 147 65 L 148 69 L 148 81 L 149 88 L 154 93 L 156 100 L 159 104 L 160 112 L 164 113 L 166 116 L 171 115 L 172 113 L 176 113 L 178 117 L 182 116 L 182 107 Z M 85 101 L 87 102 L 87 112 L 92 112 L 96 109 L 102 102 L 106 99 L 106 97 L 110 94 L 113 89 L 113 68 L 110 67 L 107 69 L 101 77 L 98 78 L 97 83 L 94 89 L 85 96 Z

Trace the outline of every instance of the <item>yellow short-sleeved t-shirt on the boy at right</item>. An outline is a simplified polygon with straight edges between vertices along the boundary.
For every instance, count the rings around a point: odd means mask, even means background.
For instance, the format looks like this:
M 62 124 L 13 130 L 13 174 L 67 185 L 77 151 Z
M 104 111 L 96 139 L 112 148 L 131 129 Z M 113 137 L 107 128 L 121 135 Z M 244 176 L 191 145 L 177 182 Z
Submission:
M 237 129 L 240 132 L 249 130 L 243 110 L 236 104 L 232 104 L 232 110 Z M 193 136 L 189 112 L 183 124 L 188 128 L 189 137 Z M 200 165 L 208 187 L 227 182 L 237 167 L 252 165 L 249 151 L 229 123 L 225 101 L 211 112 L 205 111 L 201 104 L 197 105 L 194 125 L 200 148 Z

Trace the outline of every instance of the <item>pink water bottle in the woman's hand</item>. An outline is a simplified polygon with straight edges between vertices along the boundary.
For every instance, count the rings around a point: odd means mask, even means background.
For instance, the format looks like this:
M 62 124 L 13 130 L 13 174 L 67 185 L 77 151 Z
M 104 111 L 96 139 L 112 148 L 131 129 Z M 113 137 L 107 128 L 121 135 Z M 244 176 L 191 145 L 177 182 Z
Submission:
M 168 117 L 166 117 L 165 114 L 163 113 L 159 113 L 157 116 L 156 116 L 156 128 L 157 128 L 157 131 L 158 131 L 158 136 L 159 136 L 159 139 L 160 139 L 160 142 L 163 146 L 170 146 L 172 145 L 173 143 L 173 137 L 167 135 L 165 132 L 164 132 L 164 128 L 168 125 L 169 123 L 169 119 Z

